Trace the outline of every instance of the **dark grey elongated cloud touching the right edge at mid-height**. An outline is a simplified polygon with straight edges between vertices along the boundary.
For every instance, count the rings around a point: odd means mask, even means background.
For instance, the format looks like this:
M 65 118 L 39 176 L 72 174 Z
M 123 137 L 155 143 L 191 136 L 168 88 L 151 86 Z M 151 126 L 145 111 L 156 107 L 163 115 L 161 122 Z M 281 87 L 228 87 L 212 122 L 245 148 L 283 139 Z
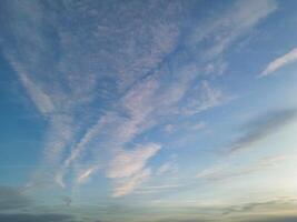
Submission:
M 228 153 L 235 153 L 251 148 L 271 133 L 291 123 L 297 117 L 296 109 L 274 110 L 251 120 L 246 125 L 247 132 L 234 141 L 227 149 Z

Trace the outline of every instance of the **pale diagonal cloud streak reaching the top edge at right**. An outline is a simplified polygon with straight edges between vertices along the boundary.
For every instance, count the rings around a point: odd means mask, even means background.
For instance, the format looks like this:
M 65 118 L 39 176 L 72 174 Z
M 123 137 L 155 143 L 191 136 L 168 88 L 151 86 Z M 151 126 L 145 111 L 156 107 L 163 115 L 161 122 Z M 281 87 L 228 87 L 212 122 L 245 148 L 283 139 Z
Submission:
M 277 9 L 276 1 L 236 1 L 219 16 L 209 18 L 190 38 L 190 44 L 204 47 L 201 58 L 220 56 L 232 42 Z

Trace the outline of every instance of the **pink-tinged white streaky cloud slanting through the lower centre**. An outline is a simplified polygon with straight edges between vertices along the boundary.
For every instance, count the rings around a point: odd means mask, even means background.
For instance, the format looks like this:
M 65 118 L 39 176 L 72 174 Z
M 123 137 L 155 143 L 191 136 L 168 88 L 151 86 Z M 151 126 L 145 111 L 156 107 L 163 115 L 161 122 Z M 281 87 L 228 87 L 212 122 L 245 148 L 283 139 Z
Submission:
M 155 112 L 158 108 L 158 102 L 155 100 L 157 89 L 158 81 L 154 78 L 149 78 L 137 83 L 125 97 L 120 98 L 117 105 L 123 110 L 125 115 L 120 111 L 107 112 L 102 115 L 98 122 L 87 131 L 81 141 L 71 149 L 70 155 L 66 159 L 62 169 L 57 174 L 58 179 L 61 180 L 67 170 L 69 170 L 68 167 L 70 163 L 79 161 L 77 159 L 81 158 L 81 152 L 86 151 L 91 145 L 96 145 L 97 149 L 101 148 L 99 150 L 100 153 L 96 153 L 96 155 L 105 155 L 107 161 L 102 163 L 102 158 L 100 160 L 95 159 L 93 165 L 89 167 L 86 171 L 79 172 L 77 181 L 91 176 L 98 170 L 98 164 L 103 164 L 109 169 L 107 176 L 110 178 L 117 178 L 116 174 L 119 172 L 125 174 L 125 172 L 129 171 L 129 168 L 132 168 L 135 171 L 141 169 L 147 159 L 160 149 L 160 145 L 154 143 L 139 145 L 131 151 L 126 151 L 123 148 L 135 137 L 156 124 L 150 120 L 155 120 Z M 93 152 L 97 152 L 97 149 L 93 149 Z M 122 165 L 119 165 L 118 170 L 115 169 L 117 164 L 120 163 L 122 163 Z M 127 165 L 125 165 L 126 163 Z M 125 169 L 127 171 L 125 171 Z

